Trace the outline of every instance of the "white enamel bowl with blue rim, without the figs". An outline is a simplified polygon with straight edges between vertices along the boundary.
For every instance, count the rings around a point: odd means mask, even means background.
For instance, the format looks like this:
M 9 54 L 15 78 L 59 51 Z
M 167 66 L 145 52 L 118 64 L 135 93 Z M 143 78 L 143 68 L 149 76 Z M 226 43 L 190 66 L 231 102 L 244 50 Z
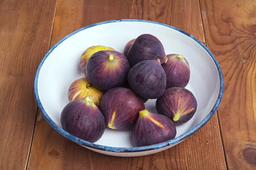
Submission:
M 195 95 L 198 108 L 191 120 L 177 126 L 175 139 L 146 147 L 136 147 L 132 132 L 106 129 L 96 143 L 79 139 L 61 128 L 60 115 L 68 103 L 69 85 L 84 77 L 79 68 L 83 51 L 105 45 L 123 52 L 125 44 L 141 34 L 152 34 L 163 44 L 166 54 L 181 54 L 189 62 L 191 77 L 187 89 Z M 209 49 L 188 33 L 172 26 L 145 20 L 112 20 L 81 28 L 55 44 L 41 61 L 35 76 L 35 99 L 47 122 L 61 135 L 90 150 L 112 156 L 143 156 L 182 142 L 202 127 L 217 110 L 223 95 L 221 68 Z M 156 113 L 156 100 L 145 107 Z

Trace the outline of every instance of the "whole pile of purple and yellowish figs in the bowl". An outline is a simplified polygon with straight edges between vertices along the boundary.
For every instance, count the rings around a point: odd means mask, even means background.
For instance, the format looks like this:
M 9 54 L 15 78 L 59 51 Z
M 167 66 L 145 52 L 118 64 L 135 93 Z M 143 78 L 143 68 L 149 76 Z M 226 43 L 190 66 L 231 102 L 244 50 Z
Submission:
M 151 34 L 129 41 L 123 53 L 91 46 L 79 66 L 85 77 L 70 85 L 61 125 L 85 141 L 98 141 L 110 128 L 132 130 L 138 147 L 158 144 L 174 139 L 176 126 L 197 110 L 195 96 L 185 88 L 189 63 L 180 54 L 166 55 Z M 148 99 L 157 99 L 157 113 L 145 110 Z

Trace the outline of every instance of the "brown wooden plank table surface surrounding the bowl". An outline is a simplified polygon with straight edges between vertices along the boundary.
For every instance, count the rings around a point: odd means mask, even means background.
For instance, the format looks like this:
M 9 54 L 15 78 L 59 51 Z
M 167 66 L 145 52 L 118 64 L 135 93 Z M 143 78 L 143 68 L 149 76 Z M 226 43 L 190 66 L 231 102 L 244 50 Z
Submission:
M 116 19 L 166 23 L 204 42 L 221 65 L 217 113 L 184 142 L 149 156 L 87 150 L 50 127 L 35 71 L 67 34 Z M 0 0 L 0 170 L 256 169 L 256 0 Z

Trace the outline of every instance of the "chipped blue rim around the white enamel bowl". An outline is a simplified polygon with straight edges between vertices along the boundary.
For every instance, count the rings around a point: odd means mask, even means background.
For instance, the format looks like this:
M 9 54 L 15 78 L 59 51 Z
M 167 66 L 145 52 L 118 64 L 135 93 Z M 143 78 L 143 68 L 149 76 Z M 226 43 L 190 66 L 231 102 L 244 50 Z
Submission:
M 63 42 L 64 40 L 66 40 L 67 38 L 71 37 L 72 35 L 87 29 L 87 28 L 91 28 L 94 26 L 98 26 L 98 25 L 102 25 L 102 24 L 107 24 L 107 23 L 116 23 L 116 22 L 145 22 L 145 23 L 153 23 L 153 24 L 158 24 L 161 26 L 166 26 L 169 28 L 172 28 L 176 31 L 179 31 L 185 35 L 187 35 L 188 37 L 192 38 L 193 40 L 195 40 L 196 42 L 198 42 L 198 44 L 200 44 L 207 52 L 208 54 L 212 57 L 213 61 L 215 62 L 215 65 L 218 69 L 218 73 L 219 73 L 219 77 L 220 77 L 220 91 L 218 94 L 218 99 L 214 105 L 214 107 L 212 108 L 212 111 L 207 115 L 207 117 L 202 120 L 198 125 L 196 125 L 194 128 L 192 128 L 191 130 L 189 130 L 188 132 L 184 133 L 181 136 L 176 137 L 175 139 L 166 141 L 166 142 L 162 142 L 159 144 L 154 144 L 154 145 L 150 145 L 150 146 L 144 146 L 144 147 L 108 147 L 108 146 L 103 146 L 103 145 L 99 145 L 99 144 L 94 144 L 91 142 L 87 142 L 84 141 L 82 139 L 77 138 L 76 136 L 71 135 L 70 133 L 67 133 L 65 130 L 63 130 L 61 127 L 59 127 L 55 122 L 52 121 L 52 119 L 48 116 L 48 114 L 46 113 L 46 111 L 44 110 L 44 107 L 42 106 L 42 103 L 39 99 L 38 96 L 38 76 L 41 70 L 42 65 L 44 64 L 45 59 L 49 56 L 49 54 L 51 54 L 51 52 L 59 45 L 61 44 L 61 42 Z M 42 59 L 42 61 L 40 62 L 38 69 L 36 71 L 35 74 L 35 82 L 34 82 L 34 92 L 35 92 L 35 100 L 36 103 L 42 113 L 42 115 L 44 116 L 44 119 L 46 119 L 46 121 L 49 123 L 49 125 L 51 125 L 58 133 L 60 133 L 61 135 L 63 135 L 64 137 L 66 137 L 67 139 L 70 139 L 73 142 L 76 142 L 78 144 L 84 145 L 86 147 L 90 147 L 93 149 L 97 149 L 97 150 L 104 150 L 104 151 L 108 151 L 108 152 L 142 152 L 142 151 L 147 151 L 147 150 L 156 150 L 156 149 L 160 149 L 166 146 L 171 146 L 173 144 L 177 144 L 178 142 L 182 141 L 183 139 L 186 139 L 188 136 L 192 135 L 193 133 L 195 133 L 197 130 L 199 130 L 203 125 L 205 125 L 208 120 L 213 116 L 213 114 L 215 113 L 215 111 L 217 111 L 222 96 L 223 96 L 223 92 L 224 92 L 224 79 L 223 79 L 223 74 L 221 71 L 221 67 L 218 64 L 217 59 L 214 57 L 214 55 L 212 54 L 212 52 L 202 43 L 200 42 L 198 39 L 196 39 L 195 37 L 193 37 L 192 35 L 186 33 L 185 31 L 182 31 L 178 28 L 175 28 L 173 26 L 169 26 L 163 23 L 157 23 L 154 21 L 148 21 L 148 20 L 134 20 L 134 19 L 122 19 L 122 20 L 109 20 L 109 21 L 104 21 L 101 23 L 95 23 L 92 24 L 90 26 L 86 26 L 83 28 L 80 28 L 79 30 L 76 30 L 74 32 L 72 32 L 71 34 L 68 34 L 66 37 L 62 38 L 59 42 L 57 42 L 48 52 L 47 54 L 44 56 L 44 58 Z

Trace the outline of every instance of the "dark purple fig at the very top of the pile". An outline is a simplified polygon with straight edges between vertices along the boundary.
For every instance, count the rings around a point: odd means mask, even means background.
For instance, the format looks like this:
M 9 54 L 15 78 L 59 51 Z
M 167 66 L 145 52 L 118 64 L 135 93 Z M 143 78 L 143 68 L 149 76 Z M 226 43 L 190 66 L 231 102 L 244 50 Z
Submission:
M 160 59 L 161 64 L 167 62 L 162 43 L 151 34 L 142 34 L 137 37 L 127 53 L 127 58 L 131 68 L 144 60 Z

